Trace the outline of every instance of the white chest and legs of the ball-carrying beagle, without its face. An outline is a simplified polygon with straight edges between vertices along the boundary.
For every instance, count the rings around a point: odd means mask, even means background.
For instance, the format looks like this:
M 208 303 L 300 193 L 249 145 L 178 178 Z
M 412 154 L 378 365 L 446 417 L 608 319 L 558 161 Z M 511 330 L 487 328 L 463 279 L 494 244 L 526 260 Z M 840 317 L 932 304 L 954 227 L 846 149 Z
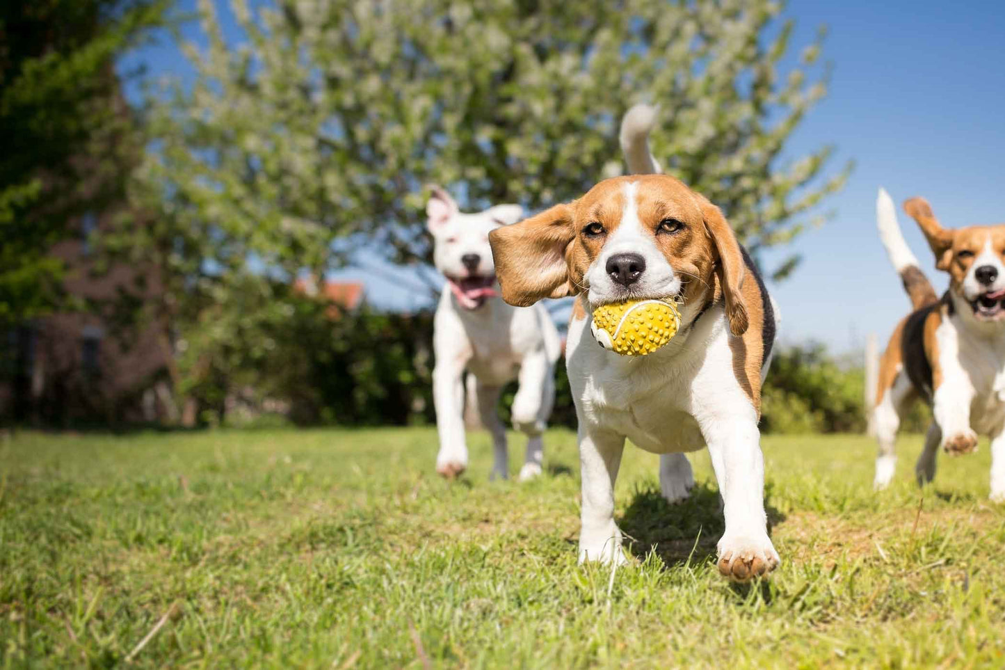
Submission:
M 582 463 L 580 560 L 624 561 L 614 481 L 627 438 L 661 455 L 660 488 L 671 502 L 693 484 L 683 454 L 708 446 L 725 503 L 720 556 L 778 564 L 767 533 L 757 411 L 737 381 L 722 306 L 642 358 L 584 337 L 590 320 L 573 322 L 566 348 Z

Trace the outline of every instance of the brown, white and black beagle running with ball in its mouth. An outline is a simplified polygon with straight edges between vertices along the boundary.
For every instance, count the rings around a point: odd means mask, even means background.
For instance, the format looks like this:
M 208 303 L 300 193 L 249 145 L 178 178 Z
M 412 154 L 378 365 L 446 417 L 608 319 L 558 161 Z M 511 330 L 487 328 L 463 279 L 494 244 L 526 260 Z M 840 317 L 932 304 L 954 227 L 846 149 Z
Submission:
M 577 296 L 566 361 L 579 418 L 580 561 L 625 561 L 614 482 L 626 438 L 660 455 L 660 489 L 670 502 L 694 484 L 684 454 L 708 446 L 726 514 L 719 569 L 745 580 L 779 564 L 767 532 L 758 431 L 778 311 L 719 208 L 656 174 L 647 141 L 653 119 L 651 108 L 637 106 L 622 122 L 622 149 L 639 174 L 601 181 L 488 238 L 511 305 Z M 598 345 L 590 328 L 596 308 L 650 298 L 679 306 L 668 344 L 641 357 Z

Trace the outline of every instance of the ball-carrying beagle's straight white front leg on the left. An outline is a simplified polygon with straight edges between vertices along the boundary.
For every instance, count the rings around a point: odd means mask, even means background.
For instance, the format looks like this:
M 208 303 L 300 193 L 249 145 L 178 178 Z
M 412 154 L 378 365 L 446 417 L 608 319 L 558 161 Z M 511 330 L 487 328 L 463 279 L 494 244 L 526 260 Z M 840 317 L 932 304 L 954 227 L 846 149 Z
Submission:
M 609 431 L 579 425 L 579 459 L 582 474 L 582 509 L 579 562 L 626 562 L 621 550 L 621 530 L 614 523 L 614 481 L 618 477 L 625 439 Z

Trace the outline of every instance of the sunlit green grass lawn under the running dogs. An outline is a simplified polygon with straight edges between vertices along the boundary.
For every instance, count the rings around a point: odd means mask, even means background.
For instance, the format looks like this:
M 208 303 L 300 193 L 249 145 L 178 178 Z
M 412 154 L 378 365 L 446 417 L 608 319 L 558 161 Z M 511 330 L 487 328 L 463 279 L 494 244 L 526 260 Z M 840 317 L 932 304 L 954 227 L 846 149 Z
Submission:
M 530 484 L 487 481 L 487 437 L 470 443 L 448 483 L 432 429 L 18 434 L 0 444 L 0 665 L 1005 667 L 986 444 L 922 495 L 906 438 L 873 494 L 868 439 L 766 438 L 783 564 L 739 587 L 714 563 L 706 453 L 670 507 L 656 458 L 625 452 L 638 563 L 612 572 L 576 565 L 573 434 L 548 435 Z

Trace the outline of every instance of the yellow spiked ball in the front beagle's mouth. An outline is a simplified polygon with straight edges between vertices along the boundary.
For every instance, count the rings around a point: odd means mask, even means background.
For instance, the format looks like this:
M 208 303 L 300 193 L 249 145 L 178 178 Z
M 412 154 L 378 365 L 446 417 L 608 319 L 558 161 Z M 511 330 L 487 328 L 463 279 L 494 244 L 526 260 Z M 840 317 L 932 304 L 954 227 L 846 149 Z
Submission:
M 608 351 L 645 356 L 663 346 L 680 327 L 680 313 L 668 300 L 629 300 L 593 311 L 593 337 Z

